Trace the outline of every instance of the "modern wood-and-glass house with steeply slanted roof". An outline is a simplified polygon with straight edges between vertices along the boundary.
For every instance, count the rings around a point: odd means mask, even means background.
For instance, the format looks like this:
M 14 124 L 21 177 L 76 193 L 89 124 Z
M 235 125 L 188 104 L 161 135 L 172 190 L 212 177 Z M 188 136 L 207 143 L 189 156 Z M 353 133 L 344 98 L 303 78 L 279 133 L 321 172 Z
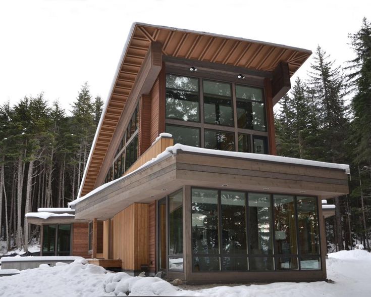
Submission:
M 275 156 L 273 107 L 310 54 L 134 23 L 74 217 L 28 214 L 44 226 L 42 253 L 47 242 L 59 253 L 59 226 L 69 222 L 71 254 L 131 274 L 324 280 L 321 201 L 348 193 L 349 166 Z

